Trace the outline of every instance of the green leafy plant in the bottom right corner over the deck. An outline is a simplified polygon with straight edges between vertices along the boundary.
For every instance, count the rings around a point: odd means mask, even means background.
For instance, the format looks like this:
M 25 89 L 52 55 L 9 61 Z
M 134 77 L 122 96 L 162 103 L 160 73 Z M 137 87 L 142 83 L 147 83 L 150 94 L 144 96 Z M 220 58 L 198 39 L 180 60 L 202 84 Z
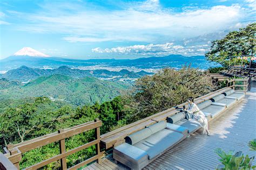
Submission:
M 225 153 L 221 148 L 217 148 L 215 150 L 220 157 L 221 164 L 216 167 L 216 169 L 254 169 L 256 166 L 252 166 L 252 161 L 254 157 L 249 158 L 248 155 L 242 154 L 241 151 L 234 153 L 234 151 L 230 151 Z

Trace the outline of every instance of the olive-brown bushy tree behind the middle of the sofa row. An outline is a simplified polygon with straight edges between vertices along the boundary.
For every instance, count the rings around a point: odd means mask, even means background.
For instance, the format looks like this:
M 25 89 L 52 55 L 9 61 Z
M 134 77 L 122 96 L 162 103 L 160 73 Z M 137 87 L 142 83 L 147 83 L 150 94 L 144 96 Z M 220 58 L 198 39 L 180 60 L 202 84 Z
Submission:
M 138 120 L 181 104 L 188 97 L 198 97 L 213 91 L 211 78 L 199 69 L 165 68 L 152 76 L 137 80 L 131 100 L 130 119 Z

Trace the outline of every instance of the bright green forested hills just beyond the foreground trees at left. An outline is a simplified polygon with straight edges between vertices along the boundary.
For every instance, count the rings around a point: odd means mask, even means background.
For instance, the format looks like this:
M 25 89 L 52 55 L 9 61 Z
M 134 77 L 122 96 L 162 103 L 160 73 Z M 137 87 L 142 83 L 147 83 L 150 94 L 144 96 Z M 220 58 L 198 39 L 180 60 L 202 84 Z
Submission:
M 60 74 L 41 76 L 25 85 L 2 78 L 0 101 L 46 96 L 53 101 L 84 105 L 109 101 L 129 87 L 124 83 L 103 81 L 95 77 L 77 79 Z

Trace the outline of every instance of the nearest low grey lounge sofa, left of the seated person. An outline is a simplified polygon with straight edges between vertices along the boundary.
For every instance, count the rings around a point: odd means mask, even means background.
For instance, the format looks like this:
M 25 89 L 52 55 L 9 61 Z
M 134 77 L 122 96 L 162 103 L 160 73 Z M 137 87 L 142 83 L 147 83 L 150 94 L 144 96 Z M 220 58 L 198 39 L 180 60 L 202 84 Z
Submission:
M 126 137 L 113 158 L 131 169 L 142 169 L 186 137 L 187 128 L 160 121 Z

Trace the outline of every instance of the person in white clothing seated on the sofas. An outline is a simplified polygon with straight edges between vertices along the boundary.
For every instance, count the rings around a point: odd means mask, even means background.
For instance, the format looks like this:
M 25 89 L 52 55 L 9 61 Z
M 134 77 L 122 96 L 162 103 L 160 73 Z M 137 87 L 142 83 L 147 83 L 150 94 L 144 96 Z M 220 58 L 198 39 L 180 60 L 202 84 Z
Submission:
M 203 134 L 207 134 L 207 136 L 211 136 L 210 131 L 208 130 L 208 121 L 207 118 L 205 117 L 205 114 L 203 111 L 201 111 L 197 104 L 194 103 L 193 97 L 189 97 L 187 99 L 188 102 L 188 109 L 185 109 L 188 114 L 190 114 L 192 118 L 189 119 L 189 121 L 193 122 L 196 121 L 200 124 L 200 126 L 204 129 Z

